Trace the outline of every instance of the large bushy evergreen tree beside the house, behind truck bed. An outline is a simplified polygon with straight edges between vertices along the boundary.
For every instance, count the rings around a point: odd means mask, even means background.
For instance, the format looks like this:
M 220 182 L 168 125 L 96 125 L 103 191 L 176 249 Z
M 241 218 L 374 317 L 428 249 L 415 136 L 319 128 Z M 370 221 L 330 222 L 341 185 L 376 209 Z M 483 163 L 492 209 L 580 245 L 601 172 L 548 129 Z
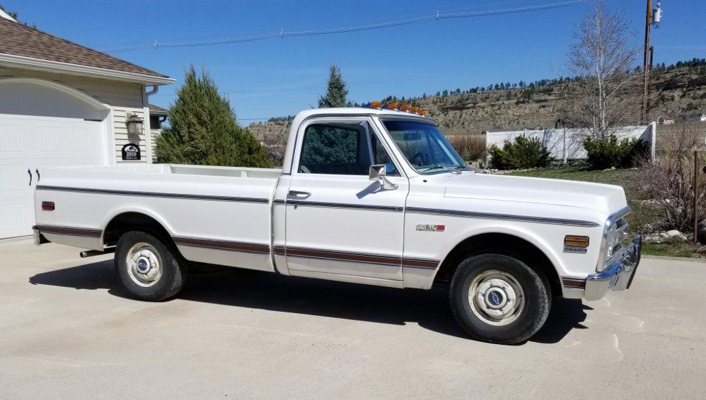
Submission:
M 186 71 L 169 108 L 169 127 L 157 137 L 157 163 L 270 167 L 265 148 L 239 127 L 230 102 L 208 73 Z

